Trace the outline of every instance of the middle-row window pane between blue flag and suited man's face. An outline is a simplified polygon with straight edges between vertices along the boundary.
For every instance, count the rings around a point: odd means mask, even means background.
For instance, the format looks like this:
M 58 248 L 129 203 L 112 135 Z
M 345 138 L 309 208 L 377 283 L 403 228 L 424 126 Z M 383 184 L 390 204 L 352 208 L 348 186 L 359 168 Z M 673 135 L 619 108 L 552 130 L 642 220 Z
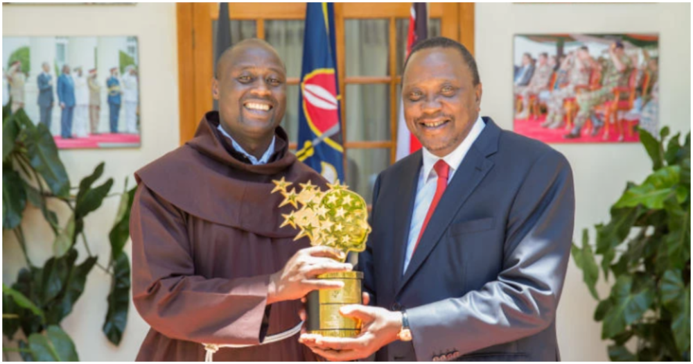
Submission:
M 347 141 L 389 141 L 389 85 L 347 85 Z

